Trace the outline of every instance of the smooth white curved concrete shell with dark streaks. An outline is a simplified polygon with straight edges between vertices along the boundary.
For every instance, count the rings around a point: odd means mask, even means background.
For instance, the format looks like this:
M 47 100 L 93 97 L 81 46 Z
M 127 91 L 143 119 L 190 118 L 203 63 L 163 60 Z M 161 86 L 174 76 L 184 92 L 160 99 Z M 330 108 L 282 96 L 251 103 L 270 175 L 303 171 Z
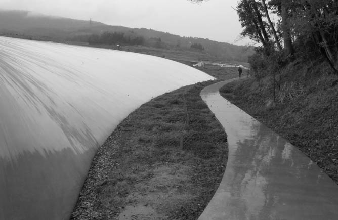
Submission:
M 0 219 L 67 219 L 97 148 L 144 102 L 214 79 L 135 53 L 0 37 Z

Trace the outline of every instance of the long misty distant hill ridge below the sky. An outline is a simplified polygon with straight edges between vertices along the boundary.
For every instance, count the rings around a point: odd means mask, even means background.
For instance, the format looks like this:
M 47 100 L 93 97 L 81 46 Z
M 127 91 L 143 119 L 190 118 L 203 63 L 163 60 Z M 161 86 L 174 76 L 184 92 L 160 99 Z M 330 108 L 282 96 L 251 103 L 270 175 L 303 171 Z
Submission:
M 28 11 L 0 11 L 0 21 L 1 35 L 25 35 L 26 38 L 67 42 L 84 41 L 92 34 L 121 32 L 127 35 L 142 36 L 148 45 L 151 45 L 154 39 L 155 41 L 160 39 L 165 48 L 191 50 L 192 44 L 200 43 L 204 48 L 203 53 L 225 61 L 247 62 L 248 56 L 254 53 L 251 47 L 204 38 L 181 37 L 152 29 L 112 26 L 96 21 L 52 17 Z

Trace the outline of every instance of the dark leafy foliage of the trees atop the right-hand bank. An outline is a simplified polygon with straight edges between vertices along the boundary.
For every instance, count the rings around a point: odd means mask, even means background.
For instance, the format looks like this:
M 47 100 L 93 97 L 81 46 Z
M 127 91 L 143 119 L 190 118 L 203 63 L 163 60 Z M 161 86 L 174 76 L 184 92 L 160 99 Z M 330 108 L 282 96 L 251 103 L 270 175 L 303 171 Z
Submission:
M 333 0 L 270 0 L 269 9 L 280 19 L 277 32 L 284 39 L 284 57 L 271 43 L 271 27 L 260 21 L 264 15 L 261 3 L 266 1 L 239 1 L 237 12 L 244 28 L 242 35 L 262 43 L 258 54 L 250 57 L 256 76 L 274 73 L 289 61 L 323 62 L 338 73 L 338 2 Z M 257 5 L 258 10 L 254 6 Z M 266 13 L 267 14 L 267 13 Z M 267 35 L 264 31 L 267 31 Z M 286 33 L 287 32 L 287 33 Z M 269 43 L 270 42 L 270 43 Z M 280 50 L 279 50 L 280 51 Z M 276 65 L 277 64 L 277 65 Z

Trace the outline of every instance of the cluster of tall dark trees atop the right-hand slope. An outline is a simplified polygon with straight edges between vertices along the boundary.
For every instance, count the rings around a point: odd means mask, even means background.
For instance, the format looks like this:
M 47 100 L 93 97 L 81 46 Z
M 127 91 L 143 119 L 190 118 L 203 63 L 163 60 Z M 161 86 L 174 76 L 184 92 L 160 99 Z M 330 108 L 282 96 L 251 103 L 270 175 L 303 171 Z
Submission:
M 241 35 L 260 43 L 264 56 L 318 53 L 338 73 L 337 0 L 240 0 L 235 10 Z

